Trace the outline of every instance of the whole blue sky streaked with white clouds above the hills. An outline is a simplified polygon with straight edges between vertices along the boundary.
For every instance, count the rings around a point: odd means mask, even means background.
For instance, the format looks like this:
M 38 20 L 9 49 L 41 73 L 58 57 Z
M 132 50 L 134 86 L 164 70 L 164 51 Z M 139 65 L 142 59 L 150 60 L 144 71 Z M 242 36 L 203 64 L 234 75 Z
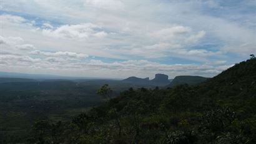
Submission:
M 214 77 L 256 54 L 255 0 L 0 0 L 0 71 Z

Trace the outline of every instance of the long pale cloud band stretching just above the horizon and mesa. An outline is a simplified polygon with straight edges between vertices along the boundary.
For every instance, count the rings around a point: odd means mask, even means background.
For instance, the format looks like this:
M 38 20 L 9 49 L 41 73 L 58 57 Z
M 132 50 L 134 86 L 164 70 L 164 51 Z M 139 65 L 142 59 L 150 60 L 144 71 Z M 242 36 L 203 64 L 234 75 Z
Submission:
M 77 62 L 62 59 L 61 57 L 46 57 L 45 59 L 33 59 L 27 55 L 0 55 L 1 64 L 12 64 L 19 67 L 33 66 L 37 69 L 46 70 L 66 70 L 66 72 L 76 71 L 87 72 L 86 74 L 99 76 L 104 72 L 105 77 L 116 75 L 116 77 L 128 77 L 130 74 L 135 76 L 154 77 L 156 73 L 167 74 L 170 77 L 176 75 L 204 75 L 211 77 L 227 69 L 230 65 L 207 65 L 207 64 L 160 64 L 149 60 L 125 60 L 122 62 L 102 62 L 102 60 L 89 60 L 86 62 Z M 22 65 L 20 65 L 22 64 Z

